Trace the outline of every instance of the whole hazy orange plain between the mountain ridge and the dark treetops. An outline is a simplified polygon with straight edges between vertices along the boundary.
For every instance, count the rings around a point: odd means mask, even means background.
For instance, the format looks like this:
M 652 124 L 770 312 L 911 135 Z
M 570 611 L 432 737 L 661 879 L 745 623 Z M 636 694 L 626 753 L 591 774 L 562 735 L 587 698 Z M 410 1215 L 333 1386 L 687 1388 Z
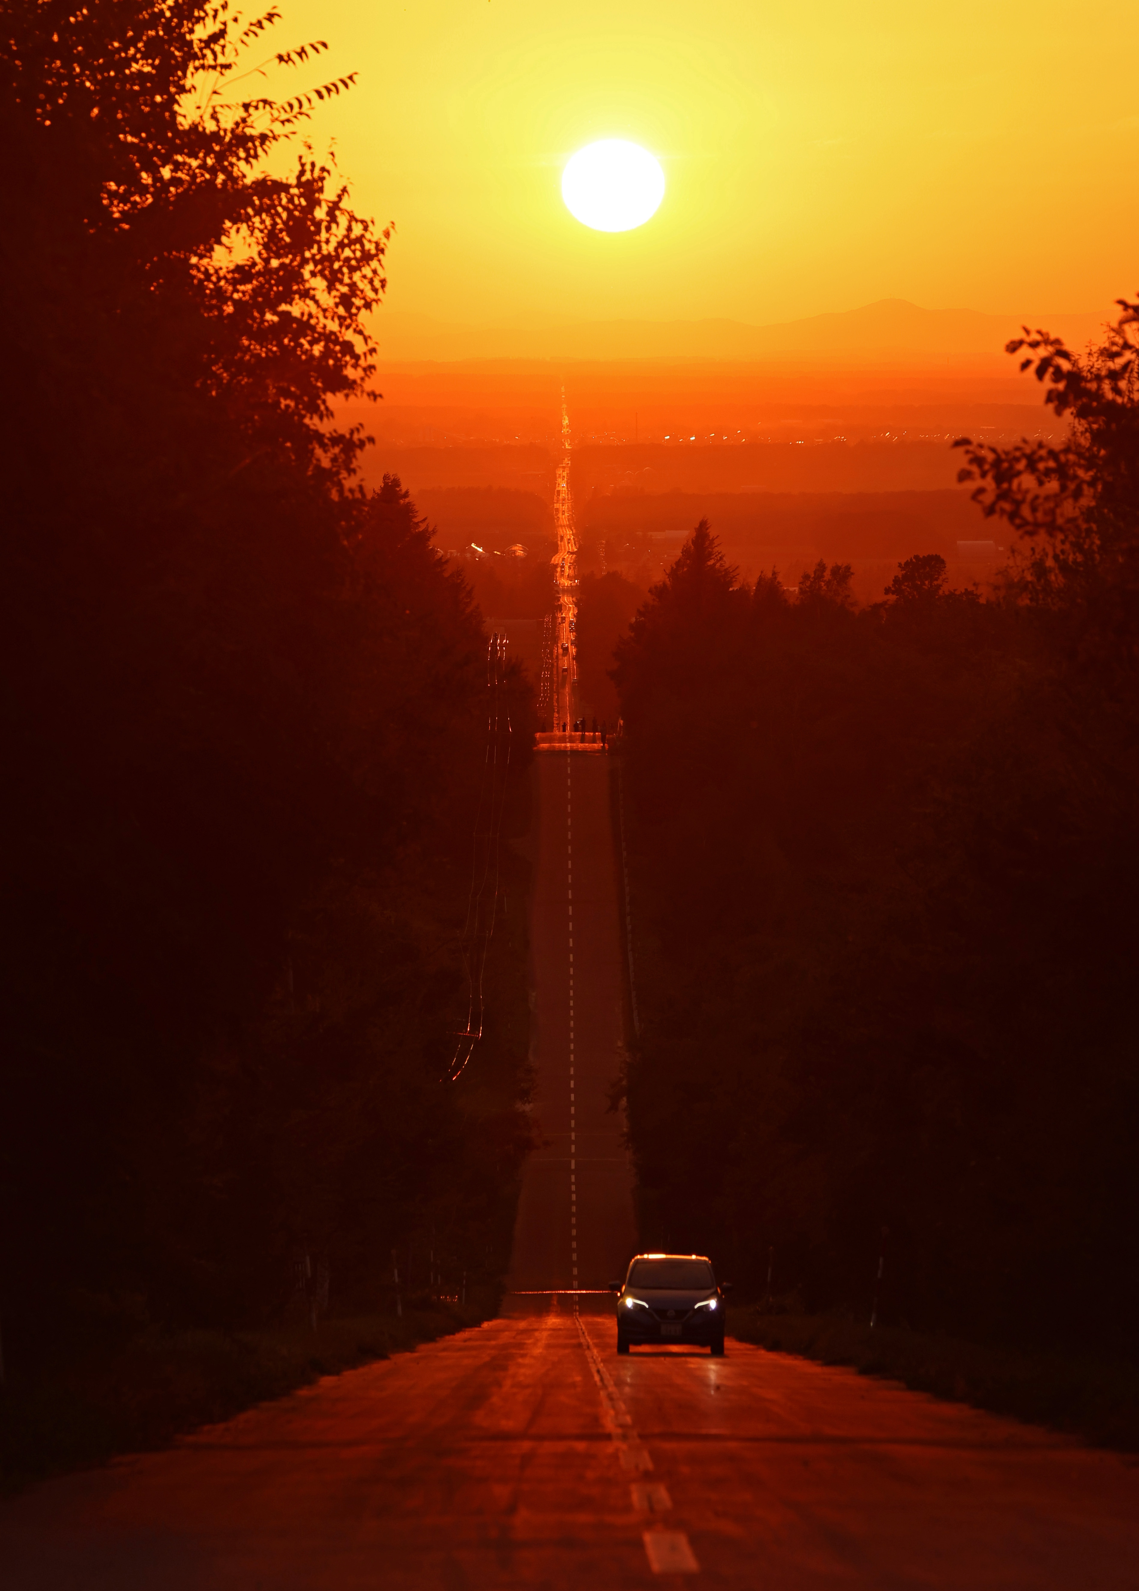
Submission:
M 778 568 L 794 584 L 818 558 L 853 563 L 857 598 L 873 601 L 899 560 L 939 552 L 953 584 L 985 584 L 1002 533 L 958 485 L 950 444 L 1056 426 L 1037 383 L 999 353 L 409 361 L 380 387 L 380 404 L 345 415 L 375 436 L 364 480 L 398 474 L 444 549 L 522 543 L 531 560 L 549 555 L 539 504 L 554 498 L 565 390 L 581 571 L 641 589 L 705 517 L 748 578 Z M 958 543 L 989 541 L 959 555 Z M 498 563 L 479 570 L 484 611 L 538 617 L 536 571 L 503 579 Z

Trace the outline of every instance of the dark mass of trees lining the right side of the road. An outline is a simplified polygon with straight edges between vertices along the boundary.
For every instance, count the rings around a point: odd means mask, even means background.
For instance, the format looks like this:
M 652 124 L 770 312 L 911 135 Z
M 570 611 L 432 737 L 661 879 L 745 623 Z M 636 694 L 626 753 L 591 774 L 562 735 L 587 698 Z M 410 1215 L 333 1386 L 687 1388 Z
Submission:
M 1059 445 L 969 445 L 1002 593 L 741 584 L 705 525 L 619 649 L 643 1236 L 759 1297 L 1134 1354 L 1139 387 L 1029 344 Z

